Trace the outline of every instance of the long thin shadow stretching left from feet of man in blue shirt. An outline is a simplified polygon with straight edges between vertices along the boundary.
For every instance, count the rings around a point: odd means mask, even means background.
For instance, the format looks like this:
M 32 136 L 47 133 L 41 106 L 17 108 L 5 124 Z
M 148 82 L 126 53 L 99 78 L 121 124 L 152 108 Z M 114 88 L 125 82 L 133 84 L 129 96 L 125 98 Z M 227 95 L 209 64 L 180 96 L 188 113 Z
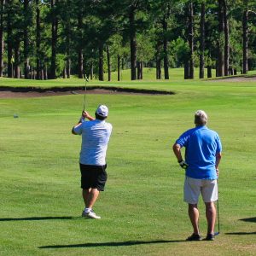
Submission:
M 171 243 L 171 242 L 185 242 L 184 240 L 154 240 L 154 241 L 108 241 L 108 242 L 87 242 L 79 244 L 67 245 L 51 245 L 38 247 L 40 249 L 56 249 L 56 248 L 79 248 L 79 247 L 129 247 L 141 244 L 154 244 L 154 243 Z

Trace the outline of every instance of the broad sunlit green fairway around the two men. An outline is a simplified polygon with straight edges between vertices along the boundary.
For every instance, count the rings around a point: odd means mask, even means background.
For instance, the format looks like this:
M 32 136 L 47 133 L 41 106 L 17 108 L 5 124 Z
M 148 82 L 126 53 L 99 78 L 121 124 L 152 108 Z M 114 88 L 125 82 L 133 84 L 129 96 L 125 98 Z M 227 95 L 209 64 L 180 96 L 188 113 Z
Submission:
M 60 81 L 41 83 L 62 86 Z M 75 79 L 65 81 L 78 85 Z M 1 85 L 27 85 L 22 83 L 0 80 Z M 0 255 L 255 255 L 256 82 L 105 84 L 175 95 L 86 96 L 91 114 L 98 104 L 108 105 L 113 124 L 108 183 L 95 206 L 101 220 L 80 218 L 81 137 L 71 128 L 84 96 L 0 99 Z M 208 126 L 218 131 L 224 147 L 221 230 L 215 241 L 186 242 L 192 229 L 183 202 L 184 173 L 172 144 L 194 126 L 197 109 L 208 113 Z M 206 236 L 202 201 L 200 210 Z

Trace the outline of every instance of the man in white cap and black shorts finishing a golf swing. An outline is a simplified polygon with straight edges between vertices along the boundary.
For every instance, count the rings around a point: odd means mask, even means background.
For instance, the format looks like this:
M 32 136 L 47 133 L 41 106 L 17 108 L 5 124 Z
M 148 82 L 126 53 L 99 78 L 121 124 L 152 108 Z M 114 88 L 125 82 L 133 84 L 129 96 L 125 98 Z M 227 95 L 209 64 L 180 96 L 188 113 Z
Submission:
M 101 218 L 92 210 L 100 191 L 104 191 L 107 181 L 106 153 L 112 125 L 107 123 L 108 107 L 100 105 L 96 118 L 83 111 L 79 124 L 73 126 L 72 133 L 82 136 L 80 151 L 81 188 L 84 199 L 84 218 Z M 88 121 L 85 121 L 85 118 Z

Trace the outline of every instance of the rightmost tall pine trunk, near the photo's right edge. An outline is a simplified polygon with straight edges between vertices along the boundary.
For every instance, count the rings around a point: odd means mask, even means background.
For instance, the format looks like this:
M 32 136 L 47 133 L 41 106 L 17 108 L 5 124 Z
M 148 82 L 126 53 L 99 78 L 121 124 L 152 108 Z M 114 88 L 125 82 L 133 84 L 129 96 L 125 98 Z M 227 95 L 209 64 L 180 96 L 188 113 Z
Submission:
M 247 2 L 247 1 L 245 1 Z M 248 71 L 248 9 L 242 15 L 242 73 Z

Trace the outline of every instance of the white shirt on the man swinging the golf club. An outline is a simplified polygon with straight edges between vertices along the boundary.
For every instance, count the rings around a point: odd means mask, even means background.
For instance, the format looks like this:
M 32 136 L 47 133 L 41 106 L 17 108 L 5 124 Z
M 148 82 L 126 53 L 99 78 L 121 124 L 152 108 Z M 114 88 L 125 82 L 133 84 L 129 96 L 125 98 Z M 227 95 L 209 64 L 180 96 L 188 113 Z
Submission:
M 80 163 L 90 166 L 106 165 L 106 153 L 112 125 L 105 120 L 85 121 L 73 129 L 82 135 Z

